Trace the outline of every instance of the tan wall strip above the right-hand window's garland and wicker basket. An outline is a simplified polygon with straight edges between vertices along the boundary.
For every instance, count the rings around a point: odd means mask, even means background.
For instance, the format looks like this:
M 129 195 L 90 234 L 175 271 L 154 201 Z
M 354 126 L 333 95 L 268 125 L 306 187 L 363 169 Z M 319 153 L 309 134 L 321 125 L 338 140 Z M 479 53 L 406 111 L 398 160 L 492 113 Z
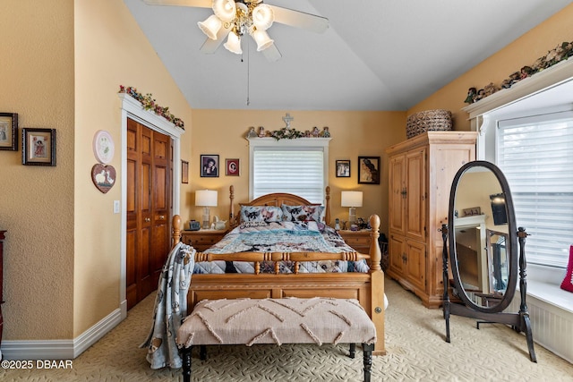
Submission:
M 467 89 L 472 87 L 481 89 L 490 82 L 499 85 L 509 77 L 509 74 L 519 71 L 525 65 L 533 64 L 537 58 L 547 55 L 547 52 L 563 41 L 573 41 L 573 4 L 517 38 L 498 53 L 483 60 L 482 63 L 476 63 L 473 69 L 410 108 L 407 115 L 422 110 L 447 109 L 453 114 L 454 130 L 469 131 L 468 115 L 461 110 L 467 106 L 464 103 Z M 468 39 L 468 44 L 471 44 L 471 38 Z

